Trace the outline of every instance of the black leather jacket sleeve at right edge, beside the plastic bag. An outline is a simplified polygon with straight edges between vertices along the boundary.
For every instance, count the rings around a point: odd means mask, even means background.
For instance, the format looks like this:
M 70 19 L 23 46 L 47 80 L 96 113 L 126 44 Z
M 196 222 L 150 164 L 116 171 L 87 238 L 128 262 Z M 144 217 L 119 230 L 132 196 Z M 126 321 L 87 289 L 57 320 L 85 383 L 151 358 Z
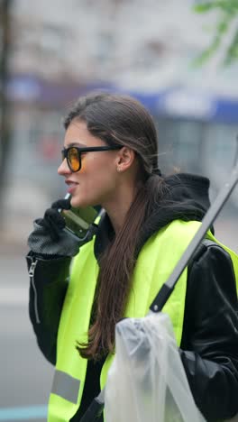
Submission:
M 188 266 L 179 350 L 197 407 L 208 421 L 238 412 L 238 306 L 230 255 L 204 244 Z

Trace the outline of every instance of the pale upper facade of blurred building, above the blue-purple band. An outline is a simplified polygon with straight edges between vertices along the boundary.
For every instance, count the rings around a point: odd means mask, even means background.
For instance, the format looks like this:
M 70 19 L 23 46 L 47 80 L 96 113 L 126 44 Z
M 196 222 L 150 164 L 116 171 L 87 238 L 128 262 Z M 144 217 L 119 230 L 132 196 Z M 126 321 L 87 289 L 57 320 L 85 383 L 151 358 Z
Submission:
M 195 14 L 192 8 L 195 3 L 194 0 L 14 1 L 11 69 L 17 74 L 53 81 L 67 79 L 77 84 L 106 81 L 146 91 L 186 81 L 189 85 L 237 95 L 232 73 L 220 70 L 217 74 L 221 57 L 216 56 L 206 66 L 206 78 L 203 71 L 196 72 L 189 66 L 212 40 L 218 19 L 215 13 Z M 226 38 L 236 28 L 237 21 Z M 234 72 L 235 69 L 233 80 Z

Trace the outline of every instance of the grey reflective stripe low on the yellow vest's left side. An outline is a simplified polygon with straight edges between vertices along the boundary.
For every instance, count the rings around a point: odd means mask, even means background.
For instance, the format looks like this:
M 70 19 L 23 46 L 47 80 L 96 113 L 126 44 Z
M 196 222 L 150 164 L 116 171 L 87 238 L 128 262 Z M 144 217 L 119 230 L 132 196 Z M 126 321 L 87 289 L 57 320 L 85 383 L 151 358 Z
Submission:
M 66 372 L 55 371 L 51 393 L 77 404 L 80 381 Z

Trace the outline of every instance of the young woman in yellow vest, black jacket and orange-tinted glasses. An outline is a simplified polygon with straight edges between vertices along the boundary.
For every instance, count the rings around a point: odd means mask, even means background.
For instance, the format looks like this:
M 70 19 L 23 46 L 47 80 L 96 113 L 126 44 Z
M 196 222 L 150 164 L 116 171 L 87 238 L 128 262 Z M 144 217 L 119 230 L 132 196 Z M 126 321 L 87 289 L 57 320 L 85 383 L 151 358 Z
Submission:
M 56 366 L 50 421 L 79 420 L 104 387 L 116 322 L 148 313 L 209 206 L 206 178 L 160 174 L 156 129 L 135 99 L 79 98 L 65 129 L 58 172 L 70 204 L 34 222 L 27 257 L 32 326 Z M 79 252 L 58 212 L 70 205 L 105 209 Z M 164 310 L 197 407 L 214 421 L 238 412 L 238 317 L 232 257 L 207 236 Z

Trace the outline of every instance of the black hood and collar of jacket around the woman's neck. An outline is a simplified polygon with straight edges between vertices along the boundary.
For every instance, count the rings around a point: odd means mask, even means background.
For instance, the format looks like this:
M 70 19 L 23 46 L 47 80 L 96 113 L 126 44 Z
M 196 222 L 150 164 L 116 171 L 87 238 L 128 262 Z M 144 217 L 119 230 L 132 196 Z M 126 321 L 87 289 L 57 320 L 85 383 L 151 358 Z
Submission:
M 164 181 L 168 188 L 167 195 L 163 198 L 163 201 L 155 206 L 151 216 L 143 222 L 136 245 L 135 258 L 141 251 L 143 244 L 160 228 L 176 219 L 201 221 L 210 206 L 209 179 L 193 174 L 180 173 L 164 177 Z M 94 252 L 97 261 L 100 260 L 100 255 L 113 238 L 114 228 L 110 218 L 105 214 L 100 220 L 96 234 Z

